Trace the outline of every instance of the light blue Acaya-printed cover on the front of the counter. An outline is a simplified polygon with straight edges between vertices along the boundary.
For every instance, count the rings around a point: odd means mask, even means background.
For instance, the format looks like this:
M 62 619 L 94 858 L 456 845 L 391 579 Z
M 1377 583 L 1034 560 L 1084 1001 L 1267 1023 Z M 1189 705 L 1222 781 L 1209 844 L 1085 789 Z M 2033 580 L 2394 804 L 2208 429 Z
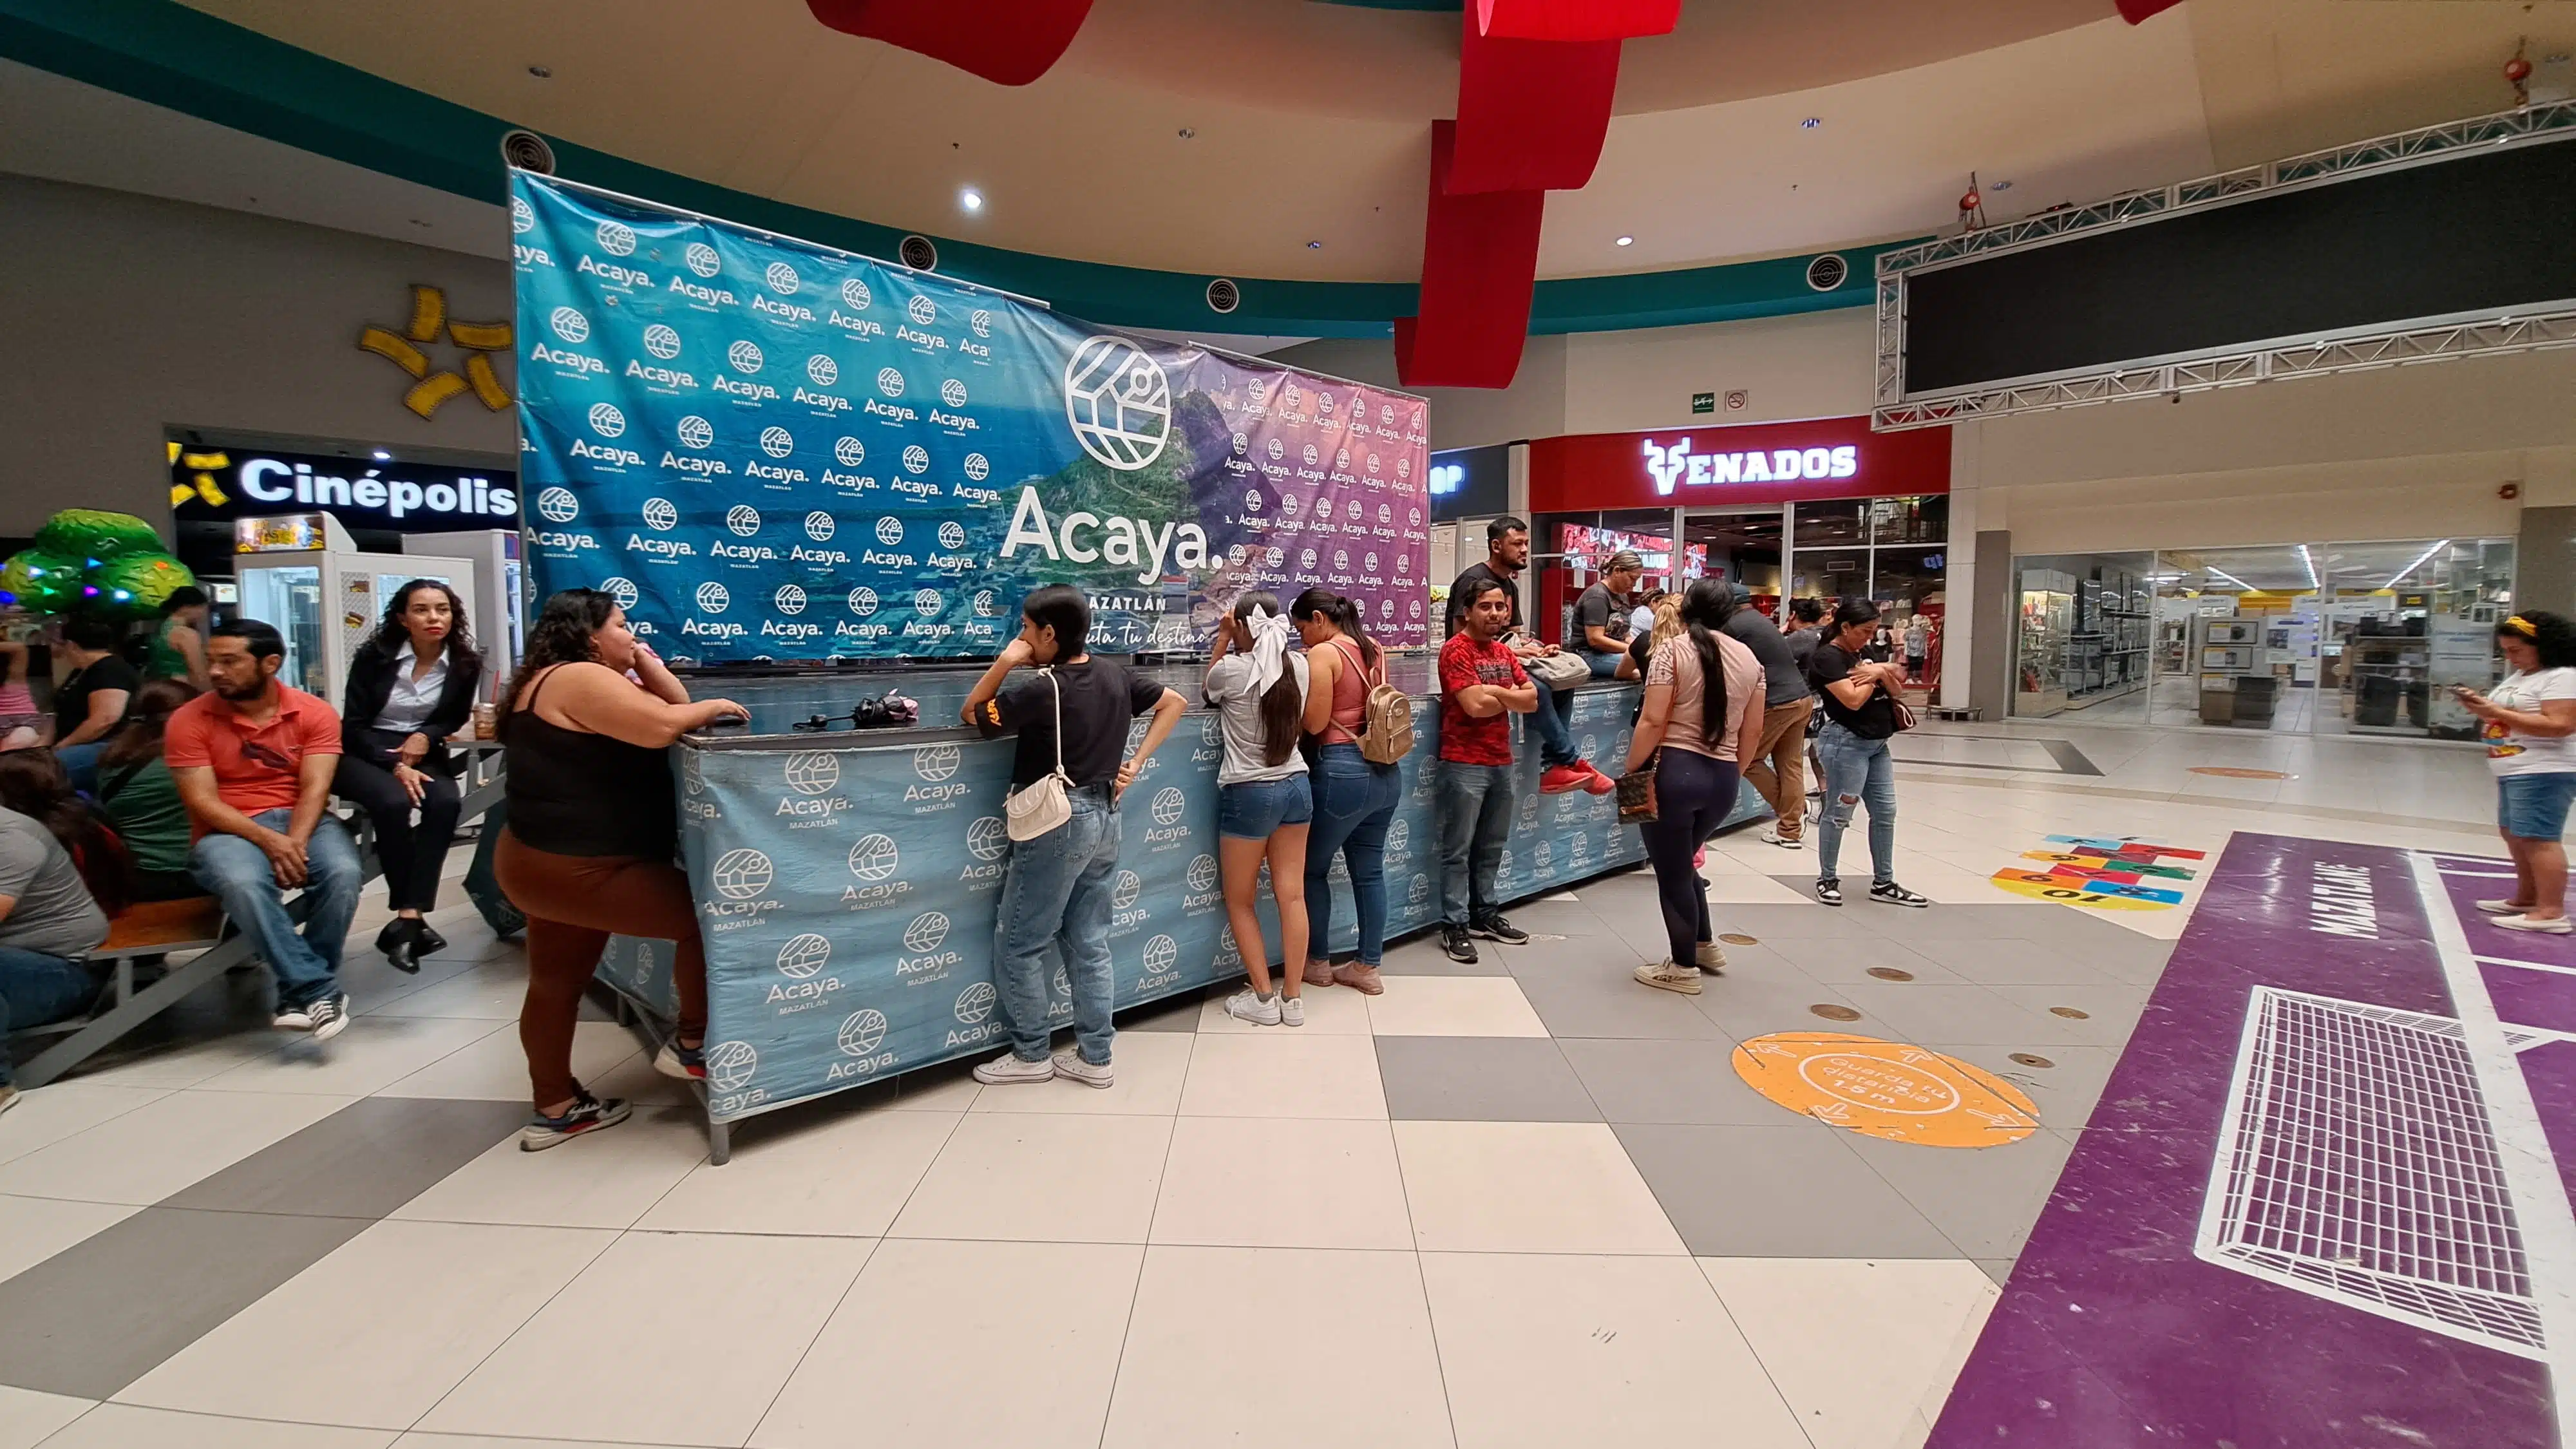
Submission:
M 1574 696 L 1584 758 L 1628 753 L 1633 688 Z M 1386 933 L 1440 920 L 1432 822 L 1440 712 L 1414 704 L 1417 745 L 1386 833 Z M 1136 735 L 1144 722 L 1136 724 Z M 677 750 L 683 856 L 698 897 L 708 980 L 708 1109 L 750 1116 L 951 1057 L 1002 1036 L 992 957 L 1010 838 L 1010 740 L 817 750 Z M 1216 714 L 1190 714 L 1121 804 L 1110 887 L 1118 1006 L 1242 972 L 1216 879 Z M 1522 900 L 1643 859 L 1602 794 L 1538 794 L 1522 740 L 1499 895 Z M 1739 817 L 1765 815 L 1744 786 Z M 1262 938 L 1278 910 L 1262 887 Z M 1332 946 L 1358 941 L 1350 877 L 1332 866 Z M 670 944 L 618 938 L 600 975 L 670 1013 Z M 1059 1024 L 1072 995 L 1056 975 Z

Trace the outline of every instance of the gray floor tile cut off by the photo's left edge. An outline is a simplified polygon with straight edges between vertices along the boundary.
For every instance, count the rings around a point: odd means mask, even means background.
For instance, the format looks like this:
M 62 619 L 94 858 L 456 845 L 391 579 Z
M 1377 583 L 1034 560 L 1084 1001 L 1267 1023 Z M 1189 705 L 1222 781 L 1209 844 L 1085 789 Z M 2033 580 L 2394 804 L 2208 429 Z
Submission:
M 108 1397 L 366 1227 L 147 1207 L 0 1284 L 0 1382 Z

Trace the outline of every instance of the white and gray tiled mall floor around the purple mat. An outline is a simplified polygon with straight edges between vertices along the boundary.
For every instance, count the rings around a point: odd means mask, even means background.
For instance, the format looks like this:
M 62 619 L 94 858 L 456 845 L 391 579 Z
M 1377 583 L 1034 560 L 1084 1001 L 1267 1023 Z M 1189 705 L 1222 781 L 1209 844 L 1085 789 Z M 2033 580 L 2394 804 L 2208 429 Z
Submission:
M 1175 1003 L 1113 1091 L 933 1070 L 742 1124 L 724 1168 L 608 1021 L 577 1070 L 647 1106 L 518 1152 L 520 957 L 466 910 L 420 977 L 353 949 L 319 1052 L 237 977 L 0 1119 L 0 1449 L 1922 1444 L 2202 884 L 2089 913 L 1986 877 L 2053 833 L 2491 853 L 2491 794 L 2465 753 L 2280 735 L 1901 755 L 1937 905 L 1826 910 L 1814 851 L 1731 835 L 1718 928 L 1754 944 L 1698 998 L 1628 980 L 1662 954 L 1631 871 L 1479 967 L 1399 944 L 1303 1029 Z M 1783 1031 L 1958 1057 L 2040 1129 L 1798 1116 L 1734 1067 Z

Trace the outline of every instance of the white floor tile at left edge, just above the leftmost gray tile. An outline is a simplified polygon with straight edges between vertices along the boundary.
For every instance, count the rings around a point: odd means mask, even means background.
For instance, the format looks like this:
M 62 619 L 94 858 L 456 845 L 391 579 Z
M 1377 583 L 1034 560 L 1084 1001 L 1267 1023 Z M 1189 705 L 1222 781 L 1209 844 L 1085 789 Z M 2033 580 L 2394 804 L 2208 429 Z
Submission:
M 0 1194 L 155 1204 L 242 1158 L 322 1122 L 355 1098 L 247 1091 L 175 1091 L 0 1163 Z

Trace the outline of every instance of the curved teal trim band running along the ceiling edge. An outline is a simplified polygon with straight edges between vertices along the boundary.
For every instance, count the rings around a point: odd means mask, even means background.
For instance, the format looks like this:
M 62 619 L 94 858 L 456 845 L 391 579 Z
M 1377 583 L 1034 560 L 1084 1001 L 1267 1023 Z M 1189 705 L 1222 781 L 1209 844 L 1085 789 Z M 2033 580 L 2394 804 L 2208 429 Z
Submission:
M 1455 8 L 1455 0 L 1391 0 L 1388 8 Z M 0 57 L 456 196 L 500 204 L 507 193 L 500 139 L 518 129 L 513 121 L 178 0 L 0 0 Z M 556 170 L 569 180 L 876 258 L 891 258 L 904 237 L 899 227 L 711 186 L 564 139 L 549 137 L 549 144 Z M 1206 302 L 1216 273 L 930 240 L 940 248 L 940 271 L 948 276 L 1038 297 L 1095 322 L 1206 333 L 1211 340 L 1224 333 L 1386 338 L 1394 317 L 1414 312 L 1417 297 L 1409 281 L 1247 276 L 1234 278 L 1242 307 L 1218 315 Z M 1806 286 L 1808 258 L 1540 281 L 1530 333 L 1605 333 L 1865 307 L 1870 258 L 1880 250 L 1888 248 L 1844 250 L 1852 281 L 1837 291 Z

